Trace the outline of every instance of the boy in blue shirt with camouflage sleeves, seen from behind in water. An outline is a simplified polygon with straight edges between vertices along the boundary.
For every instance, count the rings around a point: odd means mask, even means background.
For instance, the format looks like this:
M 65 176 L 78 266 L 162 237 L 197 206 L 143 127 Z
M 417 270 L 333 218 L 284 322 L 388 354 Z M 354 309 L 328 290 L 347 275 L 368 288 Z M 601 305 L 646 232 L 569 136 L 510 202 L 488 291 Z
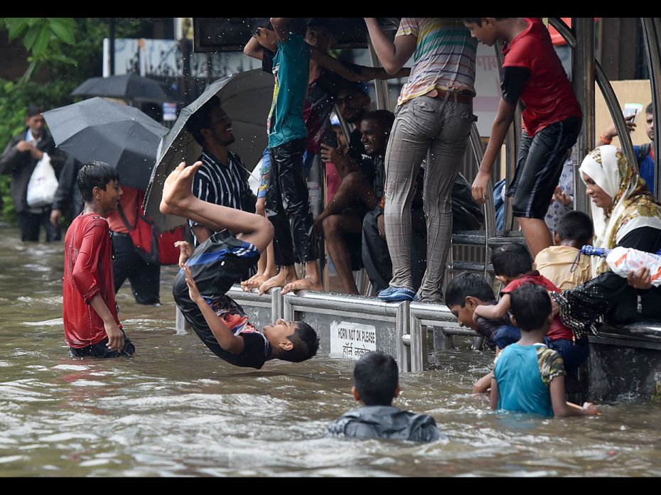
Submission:
M 493 361 L 491 408 L 544 416 L 601 414 L 593 404 L 566 401 L 560 355 L 542 343 L 552 325 L 551 298 L 543 287 L 527 284 L 512 291 L 512 322 L 521 338 Z

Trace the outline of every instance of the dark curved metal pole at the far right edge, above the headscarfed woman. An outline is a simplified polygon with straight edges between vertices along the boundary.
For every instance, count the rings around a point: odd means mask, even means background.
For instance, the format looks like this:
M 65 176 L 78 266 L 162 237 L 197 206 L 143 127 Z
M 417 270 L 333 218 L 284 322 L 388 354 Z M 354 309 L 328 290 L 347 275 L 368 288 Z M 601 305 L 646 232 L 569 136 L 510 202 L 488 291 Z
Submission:
M 659 85 L 661 84 L 661 23 L 658 17 L 641 18 L 643 23 L 643 38 L 645 48 L 647 48 L 647 67 L 650 71 L 650 85 L 652 86 L 652 110 L 654 111 L 654 156 L 657 166 L 654 168 L 654 183 L 657 199 L 661 198 L 661 174 L 659 173 L 658 163 L 661 156 L 661 144 L 659 141 L 659 125 L 661 124 L 661 96 L 659 94 Z

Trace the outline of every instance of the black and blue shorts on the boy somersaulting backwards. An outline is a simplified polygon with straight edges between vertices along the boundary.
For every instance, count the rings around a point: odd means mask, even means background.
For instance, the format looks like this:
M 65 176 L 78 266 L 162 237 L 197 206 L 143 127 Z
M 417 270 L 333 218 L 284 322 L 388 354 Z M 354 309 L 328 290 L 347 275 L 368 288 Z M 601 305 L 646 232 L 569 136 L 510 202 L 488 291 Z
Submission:
M 240 281 L 243 274 L 257 261 L 259 261 L 259 251 L 254 244 L 241 241 L 230 231 L 223 230 L 200 244 L 186 264 L 190 267 L 190 273 L 202 297 L 206 300 L 216 300 L 225 295 L 233 284 Z M 209 325 L 200 308 L 188 295 L 188 285 L 183 270 L 180 270 L 174 279 L 172 295 L 193 330 L 198 335 L 200 332 L 202 334 L 209 332 Z

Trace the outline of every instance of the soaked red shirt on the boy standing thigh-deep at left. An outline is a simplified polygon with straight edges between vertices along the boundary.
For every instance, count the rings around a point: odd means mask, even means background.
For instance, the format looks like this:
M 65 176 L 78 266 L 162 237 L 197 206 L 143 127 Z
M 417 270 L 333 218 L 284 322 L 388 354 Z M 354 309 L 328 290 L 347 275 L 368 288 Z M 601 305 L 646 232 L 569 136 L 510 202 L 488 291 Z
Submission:
M 108 222 L 96 213 L 78 215 L 67 229 L 64 249 L 64 334 L 69 347 L 80 349 L 107 337 L 103 320 L 90 306 L 97 294 L 122 328 L 114 299 Z

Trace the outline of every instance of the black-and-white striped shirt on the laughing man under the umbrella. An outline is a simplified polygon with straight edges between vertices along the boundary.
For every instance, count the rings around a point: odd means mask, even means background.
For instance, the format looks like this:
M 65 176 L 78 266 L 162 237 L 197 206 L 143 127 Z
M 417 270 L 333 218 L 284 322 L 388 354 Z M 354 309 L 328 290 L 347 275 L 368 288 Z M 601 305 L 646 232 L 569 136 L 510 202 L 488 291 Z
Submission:
M 209 151 L 200 156 L 202 166 L 193 178 L 193 195 L 200 200 L 237 210 L 254 212 L 254 195 L 248 185 L 248 171 L 241 158 L 227 151 L 227 166 L 222 165 Z M 190 227 L 198 222 L 188 220 Z

